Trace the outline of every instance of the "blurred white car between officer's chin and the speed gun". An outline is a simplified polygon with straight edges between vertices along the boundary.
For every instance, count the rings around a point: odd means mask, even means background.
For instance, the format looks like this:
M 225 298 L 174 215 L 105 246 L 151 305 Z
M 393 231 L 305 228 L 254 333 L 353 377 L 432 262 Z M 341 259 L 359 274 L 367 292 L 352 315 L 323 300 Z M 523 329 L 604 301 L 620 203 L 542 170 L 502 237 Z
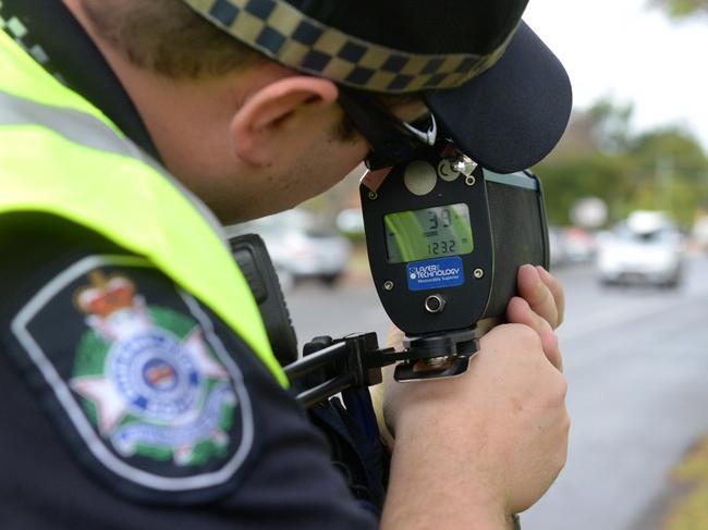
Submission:
M 304 279 L 334 285 L 344 273 L 351 255 L 346 238 L 318 226 L 309 212 L 300 209 L 232 226 L 228 233 L 258 234 L 284 289 Z

